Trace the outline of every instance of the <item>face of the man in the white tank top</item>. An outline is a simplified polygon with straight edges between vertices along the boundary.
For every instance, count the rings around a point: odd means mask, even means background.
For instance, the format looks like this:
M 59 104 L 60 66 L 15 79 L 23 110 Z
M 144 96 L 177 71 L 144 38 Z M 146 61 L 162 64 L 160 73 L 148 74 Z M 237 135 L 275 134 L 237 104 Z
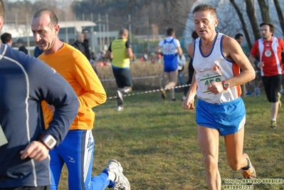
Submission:
M 194 14 L 194 26 L 199 37 L 210 38 L 219 20 L 212 16 L 211 11 L 197 11 Z

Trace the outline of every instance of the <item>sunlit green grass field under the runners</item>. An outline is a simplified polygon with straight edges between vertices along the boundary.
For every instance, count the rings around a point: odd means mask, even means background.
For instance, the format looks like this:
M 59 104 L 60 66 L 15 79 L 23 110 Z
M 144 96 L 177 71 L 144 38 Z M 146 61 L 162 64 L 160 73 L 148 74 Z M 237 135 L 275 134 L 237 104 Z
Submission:
M 111 97 L 113 89 L 104 85 Z M 117 159 L 133 190 L 206 189 L 195 110 L 184 110 L 180 97 L 182 90 L 177 102 L 171 101 L 169 93 L 167 100 L 162 100 L 159 92 L 124 97 L 121 112 L 115 110 L 114 99 L 95 107 L 93 175 L 100 174 L 108 159 Z M 278 115 L 278 128 L 272 130 L 270 104 L 263 91 L 261 97 L 243 100 L 247 113 L 244 152 L 256 167 L 257 178 L 284 179 L 284 108 Z M 228 167 L 223 137 L 219 147 L 222 186 L 225 179 L 242 179 L 240 172 Z M 64 169 L 60 189 L 68 189 L 66 179 Z M 284 184 L 255 184 L 254 189 L 284 189 Z

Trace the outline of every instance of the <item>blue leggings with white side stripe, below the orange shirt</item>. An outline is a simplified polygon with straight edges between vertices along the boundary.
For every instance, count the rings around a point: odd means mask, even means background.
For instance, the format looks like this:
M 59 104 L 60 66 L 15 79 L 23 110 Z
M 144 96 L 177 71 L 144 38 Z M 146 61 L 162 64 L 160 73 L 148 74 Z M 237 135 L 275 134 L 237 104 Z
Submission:
M 58 189 L 61 170 L 68 168 L 69 190 L 101 190 L 112 184 L 107 169 L 92 177 L 95 141 L 92 130 L 70 130 L 58 147 L 51 150 L 51 190 Z

